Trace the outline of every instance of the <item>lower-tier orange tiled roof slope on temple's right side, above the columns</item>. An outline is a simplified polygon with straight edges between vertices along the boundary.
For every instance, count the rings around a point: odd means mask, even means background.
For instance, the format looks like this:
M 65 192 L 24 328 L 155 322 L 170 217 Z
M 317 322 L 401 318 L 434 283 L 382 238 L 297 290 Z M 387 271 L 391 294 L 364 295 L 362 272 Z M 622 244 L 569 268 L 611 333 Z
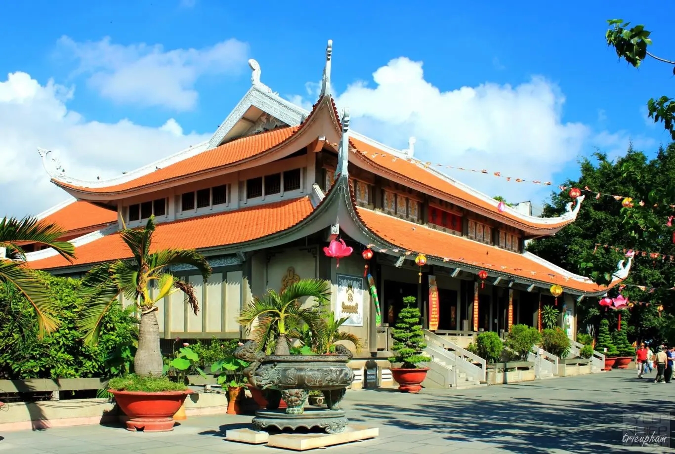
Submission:
M 547 268 L 527 256 L 487 246 L 470 239 L 443 233 L 423 225 L 414 224 L 366 208 L 356 208 L 362 223 L 385 241 L 402 249 L 428 256 L 448 258 L 454 262 L 483 268 L 485 271 L 498 271 L 509 275 L 559 284 L 562 287 L 586 293 L 597 293 L 606 287 L 595 283 L 583 283 L 574 279 L 565 279 L 560 271 Z M 487 266 L 491 264 L 491 266 Z M 507 268 L 502 268 L 507 266 Z M 535 274 L 533 274 L 535 273 Z

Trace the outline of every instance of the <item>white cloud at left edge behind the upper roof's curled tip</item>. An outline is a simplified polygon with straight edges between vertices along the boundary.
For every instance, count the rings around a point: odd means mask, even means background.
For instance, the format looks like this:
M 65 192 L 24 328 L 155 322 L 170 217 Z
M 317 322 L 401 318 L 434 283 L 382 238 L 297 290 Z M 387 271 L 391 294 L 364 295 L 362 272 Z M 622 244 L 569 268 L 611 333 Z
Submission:
M 118 176 L 173 154 L 209 136 L 184 134 L 169 119 L 146 127 L 123 119 L 88 121 L 68 109 L 74 89 L 41 85 L 24 72 L 0 80 L 0 215 L 36 215 L 68 197 L 49 182 L 36 147 L 53 150 L 65 171 L 82 179 Z

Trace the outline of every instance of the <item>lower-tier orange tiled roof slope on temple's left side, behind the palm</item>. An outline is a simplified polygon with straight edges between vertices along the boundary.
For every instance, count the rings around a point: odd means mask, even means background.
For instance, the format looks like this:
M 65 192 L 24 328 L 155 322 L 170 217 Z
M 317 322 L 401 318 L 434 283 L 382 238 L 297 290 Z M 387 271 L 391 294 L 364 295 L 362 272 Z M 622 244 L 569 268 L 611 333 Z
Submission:
M 222 212 L 171 223 L 158 224 L 153 250 L 166 248 L 202 249 L 248 242 L 284 231 L 314 210 L 308 197 L 284 200 L 262 206 Z M 130 258 L 131 253 L 119 233 L 106 235 L 76 248 L 72 264 L 82 265 Z M 37 269 L 60 268 L 71 264 L 61 256 L 28 262 Z

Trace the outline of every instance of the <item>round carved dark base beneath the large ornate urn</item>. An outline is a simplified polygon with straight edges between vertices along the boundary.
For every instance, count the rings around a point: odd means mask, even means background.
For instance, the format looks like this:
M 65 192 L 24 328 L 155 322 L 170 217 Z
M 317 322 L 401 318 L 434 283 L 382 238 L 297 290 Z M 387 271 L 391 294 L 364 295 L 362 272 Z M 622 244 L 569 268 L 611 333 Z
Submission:
M 257 430 L 319 428 L 328 434 L 336 434 L 344 431 L 348 420 L 343 410 L 306 408 L 302 414 L 287 414 L 285 410 L 259 410 L 252 424 Z

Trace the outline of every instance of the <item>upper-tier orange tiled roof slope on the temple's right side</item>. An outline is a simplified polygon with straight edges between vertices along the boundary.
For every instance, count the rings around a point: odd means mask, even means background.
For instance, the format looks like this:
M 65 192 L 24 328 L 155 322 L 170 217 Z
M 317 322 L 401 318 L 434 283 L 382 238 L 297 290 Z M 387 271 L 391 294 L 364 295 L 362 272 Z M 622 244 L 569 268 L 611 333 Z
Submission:
M 416 181 L 416 183 L 427 186 L 427 188 L 431 188 L 432 190 L 439 190 L 445 194 L 450 195 L 451 197 L 464 200 L 465 202 L 469 202 L 472 205 L 490 210 L 491 212 L 494 212 L 495 217 L 506 217 L 512 221 L 516 221 L 517 223 L 532 227 L 533 229 L 545 230 L 561 227 L 570 223 L 570 221 L 560 221 L 560 223 L 541 225 L 539 223 L 530 223 L 528 221 L 524 221 L 524 219 L 516 217 L 508 211 L 499 213 L 495 209 L 495 206 L 489 204 L 489 202 L 486 202 L 485 200 L 473 194 L 469 194 L 462 188 L 458 188 L 454 184 L 450 183 L 450 181 L 447 179 L 444 179 L 435 173 L 423 169 L 414 162 L 407 161 L 405 158 L 400 157 L 382 157 L 381 154 L 383 154 L 383 150 L 355 138 L 350 138 L 350 141 L 357 150 L 362 152 L 359 153 L 360 156 L 367 159 L 367 161 L 370 163 L 373 163 L 379 167 L 383 167 L 384 169 L 397 173 L 403 177 L 407 177 L 408 179 L 412 179 Z

